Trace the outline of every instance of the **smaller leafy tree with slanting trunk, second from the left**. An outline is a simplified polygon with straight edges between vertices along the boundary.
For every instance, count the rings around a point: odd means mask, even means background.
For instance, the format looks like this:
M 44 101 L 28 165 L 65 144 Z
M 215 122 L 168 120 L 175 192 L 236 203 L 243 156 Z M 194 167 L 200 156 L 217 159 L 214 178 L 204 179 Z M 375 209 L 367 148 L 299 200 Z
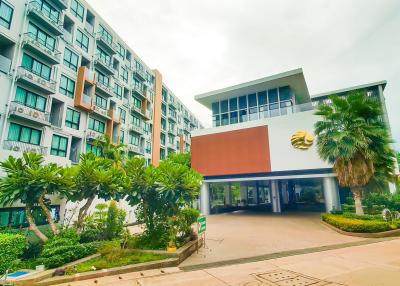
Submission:
M 68 194 L 68 198 L 75 202 L 86 200 L 78 212 L 78 228 L 82 227 L 96 196 L 105 200 L 118 200 L 122 191 L 129 187 L 129 181 L 122 168 L 115 166 L 113 160 L 97 157 L 91 152 L 81 154 L 74 177 L 75 190 Z

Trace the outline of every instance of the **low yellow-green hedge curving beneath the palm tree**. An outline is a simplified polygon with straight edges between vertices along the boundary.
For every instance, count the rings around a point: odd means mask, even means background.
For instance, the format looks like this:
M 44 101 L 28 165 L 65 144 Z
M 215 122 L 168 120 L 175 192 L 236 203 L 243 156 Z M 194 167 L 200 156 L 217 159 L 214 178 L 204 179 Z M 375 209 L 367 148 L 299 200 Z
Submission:
M 343 215 L 334 214 L 323 214 L 322 220 L 330 225 L 348 232 L 373 233 L 397 228 L 397 225 L 390 225 L 385 221 L 350 218 Z

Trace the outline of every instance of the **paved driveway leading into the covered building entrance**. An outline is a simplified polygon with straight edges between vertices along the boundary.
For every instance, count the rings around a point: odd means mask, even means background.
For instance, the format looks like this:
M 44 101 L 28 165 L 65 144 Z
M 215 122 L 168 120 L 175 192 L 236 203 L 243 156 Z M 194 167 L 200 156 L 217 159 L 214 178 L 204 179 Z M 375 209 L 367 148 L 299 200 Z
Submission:
M 365 240 L 341 235 L 321 223 L 318 213 L 235 212 L 207 217 L 206 248 L 180 267 L 262 256 Z M 217 264 L 218 265 L 218 264 Z

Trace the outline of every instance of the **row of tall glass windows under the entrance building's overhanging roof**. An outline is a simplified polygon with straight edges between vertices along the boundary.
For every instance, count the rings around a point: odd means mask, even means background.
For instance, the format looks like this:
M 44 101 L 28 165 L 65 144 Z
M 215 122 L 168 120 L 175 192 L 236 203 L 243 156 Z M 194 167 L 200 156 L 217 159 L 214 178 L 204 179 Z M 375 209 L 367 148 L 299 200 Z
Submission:
M 223 126 L 293 113 L 294 95 L 289 86 L 232 97 L 212 104 L 213 126 Z

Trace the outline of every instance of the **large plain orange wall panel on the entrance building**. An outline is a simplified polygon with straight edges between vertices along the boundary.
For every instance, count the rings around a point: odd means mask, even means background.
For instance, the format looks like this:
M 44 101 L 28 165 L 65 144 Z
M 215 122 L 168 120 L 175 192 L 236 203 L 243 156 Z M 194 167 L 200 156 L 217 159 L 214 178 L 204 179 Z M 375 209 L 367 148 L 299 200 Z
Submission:
M 267 126 L 192 137 L 191 153 L 204 176 L 271 172 Z

